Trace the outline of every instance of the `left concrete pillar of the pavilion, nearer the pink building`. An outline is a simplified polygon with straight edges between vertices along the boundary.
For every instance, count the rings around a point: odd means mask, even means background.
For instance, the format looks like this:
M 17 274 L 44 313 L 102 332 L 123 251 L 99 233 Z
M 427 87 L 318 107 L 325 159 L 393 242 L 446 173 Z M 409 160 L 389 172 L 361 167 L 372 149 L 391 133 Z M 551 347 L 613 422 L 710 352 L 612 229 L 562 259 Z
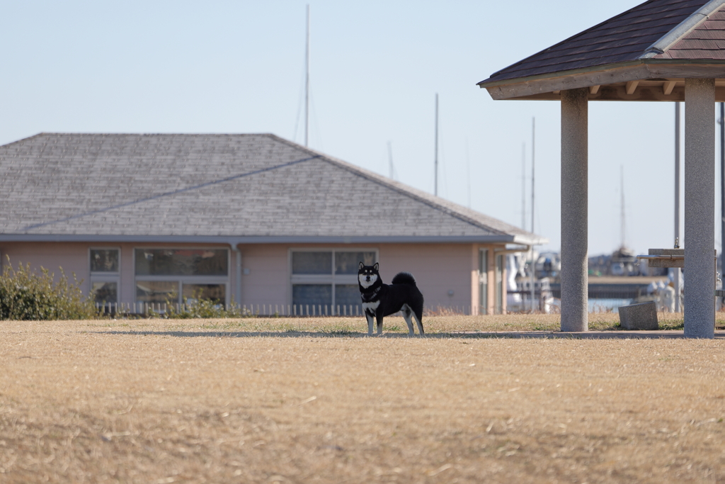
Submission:
M 587 331 L 589 89 L 561 91 L 561 330 Z

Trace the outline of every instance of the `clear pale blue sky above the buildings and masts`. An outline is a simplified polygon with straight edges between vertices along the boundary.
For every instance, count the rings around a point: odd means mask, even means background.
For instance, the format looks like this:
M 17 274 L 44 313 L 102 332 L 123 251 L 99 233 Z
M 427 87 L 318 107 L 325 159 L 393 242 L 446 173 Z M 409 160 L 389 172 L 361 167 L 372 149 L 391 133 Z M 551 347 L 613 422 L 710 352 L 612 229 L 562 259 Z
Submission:
M 521 226 L 522 144 L 528 179 L 535 117 L 535 231 L 558 250 L 560 106 L 494 102 L 476 83 L 639 3 L 4 0 L 0 143 L 41 131 L 302 142 L 310 4 L 310 147 L 387 175 L 390 142 L 395 178 L 433 192 L 438 93 L 439 194 Z M 621 165 L 627 244 L 670 247 L 674 104 L 589 104 L 592 255 L 620 243 Z M 524 196 L 531 229 L 528 180 Z

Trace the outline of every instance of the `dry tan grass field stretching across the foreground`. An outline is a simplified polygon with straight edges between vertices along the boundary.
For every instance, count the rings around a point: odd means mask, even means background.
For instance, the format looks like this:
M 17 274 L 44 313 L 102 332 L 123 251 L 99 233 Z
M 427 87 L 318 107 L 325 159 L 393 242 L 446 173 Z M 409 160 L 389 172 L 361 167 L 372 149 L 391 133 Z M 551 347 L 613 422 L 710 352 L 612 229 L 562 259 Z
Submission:
M 447 334 L 557 321 L 0 321 L 0 483 L 725 483 L 725 340 Z

